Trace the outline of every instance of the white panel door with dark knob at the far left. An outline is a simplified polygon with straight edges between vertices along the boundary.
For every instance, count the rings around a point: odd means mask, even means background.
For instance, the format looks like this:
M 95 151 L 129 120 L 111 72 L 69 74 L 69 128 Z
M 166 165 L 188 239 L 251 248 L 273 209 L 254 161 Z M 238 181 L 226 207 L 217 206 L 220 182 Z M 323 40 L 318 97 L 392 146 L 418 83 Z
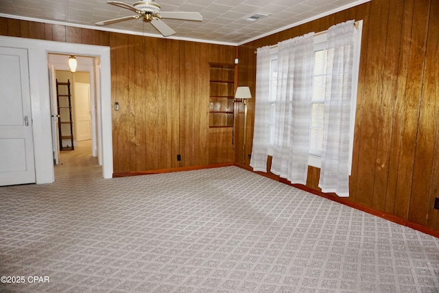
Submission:
M 35 183 L 27 49 L 0 47 L 0 186 Z

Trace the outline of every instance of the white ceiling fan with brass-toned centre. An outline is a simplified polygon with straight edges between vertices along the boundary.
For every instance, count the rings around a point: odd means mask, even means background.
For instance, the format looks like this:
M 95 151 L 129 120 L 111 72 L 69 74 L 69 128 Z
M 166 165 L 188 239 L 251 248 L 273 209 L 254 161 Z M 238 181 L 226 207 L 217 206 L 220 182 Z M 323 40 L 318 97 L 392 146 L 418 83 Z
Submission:
M 169 27 L 162 19 L 179 19 L 182 21 L 202 21 L 203 16 L 199 12 L 161 12 L 161 7 L 154 0 L 151 1 L 138 1 L 133 5 L 119 2 L 119 1 L 107 1 L 108 4 L 119 6 L 131 11 L 136 12 L 138 15 L 125 16 L 119 19 L 110 19 L 108 21 L 99 21 L 96 25 L 110 25 L 112 23 L 119 23 L 119 21 L 128 21 L 130 19 L 140 19 L 151 23 L 152 26 L 158 30 L 163 36 L 171 36 L 176 32 Z

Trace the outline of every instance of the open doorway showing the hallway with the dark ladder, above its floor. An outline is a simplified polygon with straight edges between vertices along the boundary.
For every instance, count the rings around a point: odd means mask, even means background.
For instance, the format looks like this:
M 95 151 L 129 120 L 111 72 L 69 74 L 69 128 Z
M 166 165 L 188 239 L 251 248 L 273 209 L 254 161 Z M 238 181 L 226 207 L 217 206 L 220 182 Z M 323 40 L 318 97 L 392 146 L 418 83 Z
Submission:
M 95 65 L 99 64 L 99 59 L 76 56 L 78 67 L 77 71 L 72 73 L 68 66 L 69 56 L 67 54 L 48 54 L 49 75 L 51 75 L 49 80 L 51 81 L 50 102 L 51 116 L 53 117 L 51 124 L 54 164 L 60 163 L 60 150 L 73 150 L 74 152 L 75 148 L 80 145 L 81 152 L 85 151 L 87 154 L 97 157 L 97 163 L 102 165 L 99 162 L 99 140 L 97 137 L 97 133 L 99 133 L 97 130 L 99 125 L 99 121 L 97 121 L 99 116 L 97 111 L 99 81 L 96 78 L 97 68 Z M 59 83 L 69 83 L 69 87 L 58 87 Z M 67 89 L 69 90 L 69 99 L 65 98 Z M 66 133 L 69 135 L 63 135 Z

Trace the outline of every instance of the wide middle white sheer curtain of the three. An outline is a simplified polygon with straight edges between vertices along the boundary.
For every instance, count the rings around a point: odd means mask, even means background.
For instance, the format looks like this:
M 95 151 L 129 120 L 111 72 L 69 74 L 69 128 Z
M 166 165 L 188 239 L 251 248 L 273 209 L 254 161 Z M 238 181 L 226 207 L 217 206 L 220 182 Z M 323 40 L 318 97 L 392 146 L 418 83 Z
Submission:
M 313 80 L 313 36 L 278 43 L 276 123 L 271 172 L 307 183 Z

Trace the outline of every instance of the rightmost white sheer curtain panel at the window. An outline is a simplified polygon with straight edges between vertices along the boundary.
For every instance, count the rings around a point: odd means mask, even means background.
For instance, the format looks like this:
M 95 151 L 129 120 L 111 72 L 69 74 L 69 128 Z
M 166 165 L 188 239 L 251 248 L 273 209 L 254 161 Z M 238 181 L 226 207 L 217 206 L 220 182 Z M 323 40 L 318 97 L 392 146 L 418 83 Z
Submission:
M 322 167 L 318 185 L 323 192 L 335 192 L 343 197 L 349 196 L 353 22 L 333 25 L 327 32 L 328 54 L 333 54 L 333 63 L 327 71 L 327 76 L 331 76 L 331 82 L 327 82 L 331 96 L 324 101 Z

